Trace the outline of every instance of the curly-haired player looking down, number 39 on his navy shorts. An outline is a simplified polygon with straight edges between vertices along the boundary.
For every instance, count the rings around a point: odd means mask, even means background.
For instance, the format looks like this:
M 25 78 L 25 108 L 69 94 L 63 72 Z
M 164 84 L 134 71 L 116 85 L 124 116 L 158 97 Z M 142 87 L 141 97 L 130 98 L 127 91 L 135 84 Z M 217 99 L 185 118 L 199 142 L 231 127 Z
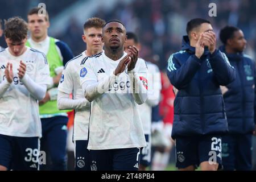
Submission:
M 42 128 L 38 101 L 46 95 L 46 56 L 25 46 L 27 23 L 5 23 L 7 48 L 0 52 L 0 170 L 38 170 Z

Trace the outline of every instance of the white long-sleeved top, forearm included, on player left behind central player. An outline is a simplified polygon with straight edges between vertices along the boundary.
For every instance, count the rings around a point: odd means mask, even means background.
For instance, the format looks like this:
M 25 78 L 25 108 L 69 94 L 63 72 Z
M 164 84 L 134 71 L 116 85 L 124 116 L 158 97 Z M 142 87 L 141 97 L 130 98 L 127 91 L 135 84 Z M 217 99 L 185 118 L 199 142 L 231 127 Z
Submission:
M 86 59 L 85 52 L 68 61 L 60 78 L 57 104 L 60 110 L 75 109 L 73 140 L 88 140 L 90 102 L 80 86 L 80 63 Z M 69 98 L 72 93 L 73 98 Z

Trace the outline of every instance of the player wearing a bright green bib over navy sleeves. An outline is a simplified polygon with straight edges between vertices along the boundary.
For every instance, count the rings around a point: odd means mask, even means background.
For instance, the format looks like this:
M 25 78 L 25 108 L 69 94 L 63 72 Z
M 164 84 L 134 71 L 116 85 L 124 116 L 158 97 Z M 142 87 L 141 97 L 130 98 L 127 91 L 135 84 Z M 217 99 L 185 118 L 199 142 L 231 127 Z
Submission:
M 38 15 L 39 8 L 35 7 L 28 12 L 28 28 L 31 38 L 27 46 L 43 52 L 48 60 L 51 85 L 48 86 L 46 97 L 39 102 L 39 113 L 42 121 L 43 137 L 42 150 L 52 159 L 52 170 L 65 170 L 67 168 L 66 143 L 67 143 L 67 111 L 57 108 L 57 85 L 65 63 L 73 58 L 67 44 L 48 36 L 49 16 Z M 42 169 L 48 168 L 42 166 Z

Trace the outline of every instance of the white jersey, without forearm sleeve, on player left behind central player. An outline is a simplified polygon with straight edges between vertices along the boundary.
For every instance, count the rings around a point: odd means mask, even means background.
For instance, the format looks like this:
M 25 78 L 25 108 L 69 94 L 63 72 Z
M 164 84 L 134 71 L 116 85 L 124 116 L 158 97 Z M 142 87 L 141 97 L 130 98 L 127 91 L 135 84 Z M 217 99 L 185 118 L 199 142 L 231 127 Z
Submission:
M 79 72 L 81 61 L 86 57 L 85 52 L 82 52 L 81 55 L 68 61 L 58 86 L 58 90 L 61 92 L 72 93 L 74 100 L 85 98 L 80 86 Z M 90 105 L 75 110 L 73 140 L 88 140 L 89 117 Z

